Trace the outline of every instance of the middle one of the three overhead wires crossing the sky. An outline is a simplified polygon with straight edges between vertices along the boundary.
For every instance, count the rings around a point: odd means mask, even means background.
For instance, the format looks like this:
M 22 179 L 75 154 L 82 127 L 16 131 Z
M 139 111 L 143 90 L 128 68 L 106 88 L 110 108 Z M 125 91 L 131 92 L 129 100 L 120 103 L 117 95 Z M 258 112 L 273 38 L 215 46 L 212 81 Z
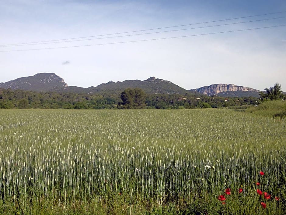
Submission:
M 71 41 L 57 41 L 57 42 L 45 42 L 45 43 L 34 43 L 34 44 L 2 45 L 2 46 L 0 45 L 0 47 L 43 45 L 43 44 L 66 43 L 66 42 L 76 42 L 76 41 L 99 40 L 99 39 L 108 39 L 108 38 L 130 37 L 130 36 L 138 36 L 138 35 L 145 35 L 145 34 L 158 34 L 158 33 L 166 33 L 166 32 L 181 31 L 181 30 L 192 30 L 192 29 L 199 29 L 199 28 L 218 27 L 218 26 L 225 26 L 225 25 L 233 25 L 233 24 L 241 24 L 241 23 L 250 23 L 250 22 L 258 22 L 258 21 L 274 20 L 274 19 L 281 19 L 281 18 L 286 18 L 286 16 L 275 17 L 275 18 L 268 18 L 268 19 L 261 19 L 261 20 L 251 20 L 251 21 L 244 21 L 244 22 L 236 22 L 236 23 L 219 24 L 219 25 L 209 25 L 209 26 L 194 27 L 194 28 L 184 28 L 184 29 L 176 29 L 176 30 L 156 31 L 156 32 L 148 32 L 148 33 L 141 33 L 141 34 L 129 34 L 129 35 L 120 35 L 120 36 L 103 37 L 103 38 L 81 39 L 81 40 L 71 40 Z

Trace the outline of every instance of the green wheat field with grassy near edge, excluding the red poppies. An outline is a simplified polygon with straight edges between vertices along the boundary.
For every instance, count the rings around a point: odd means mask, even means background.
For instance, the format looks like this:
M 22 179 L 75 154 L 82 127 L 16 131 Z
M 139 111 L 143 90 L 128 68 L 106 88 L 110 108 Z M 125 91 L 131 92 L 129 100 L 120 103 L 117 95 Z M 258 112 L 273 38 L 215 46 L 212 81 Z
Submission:
M 227 109 L 0 110 L 0 213 L 285 214 L 285 125 Z

